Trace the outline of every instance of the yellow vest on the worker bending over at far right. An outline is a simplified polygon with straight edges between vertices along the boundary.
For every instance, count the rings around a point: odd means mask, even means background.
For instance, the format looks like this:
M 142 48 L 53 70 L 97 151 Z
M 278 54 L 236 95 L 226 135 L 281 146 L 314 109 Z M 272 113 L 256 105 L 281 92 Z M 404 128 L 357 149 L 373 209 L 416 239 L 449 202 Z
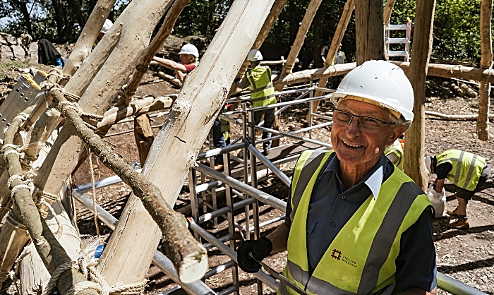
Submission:
M 455 186 L 466 189 L 466 191 L 474 191 L 483 167 L 486 166 L 486 159 L 462 150 L 446 150 L 440 153 L 436 159 L 438 161 L 436 166 L 444 163 L 452 164 L 453 168 L 446 178 Z

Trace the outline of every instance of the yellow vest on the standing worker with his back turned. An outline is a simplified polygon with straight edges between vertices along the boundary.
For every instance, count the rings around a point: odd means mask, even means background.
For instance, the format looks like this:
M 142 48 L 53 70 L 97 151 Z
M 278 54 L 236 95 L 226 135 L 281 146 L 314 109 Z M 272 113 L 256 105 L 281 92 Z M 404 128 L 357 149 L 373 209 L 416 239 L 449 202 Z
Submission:
M 269 66 L 256 66 L 249 69 L 246 77 L 251 85 L 251 100 L 254 107 L 276 103 L 275 88 L 272 85 Z

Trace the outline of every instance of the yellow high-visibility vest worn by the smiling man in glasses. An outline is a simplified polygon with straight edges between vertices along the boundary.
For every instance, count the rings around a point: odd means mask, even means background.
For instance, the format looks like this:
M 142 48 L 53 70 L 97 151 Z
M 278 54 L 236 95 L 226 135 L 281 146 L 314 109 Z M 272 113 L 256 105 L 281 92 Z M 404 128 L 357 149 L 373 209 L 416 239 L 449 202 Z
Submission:
M 320 155 L 311 157 L 311 151 L 306 151 L 296 164 L 291 199 L 292 204 L 297 205 L 288 239 L 289 262 L 283 273 L 311 294 L 382 291 L 394 284 L 394 261 L 399 254 L 402 233 L 416 222 L 426 207 L 431 207 L 430 201 L 406 174 L 394 169 L 382 183 L 378 198 L 370 195 L 339 231 L 311 276 L 306 248 L 308 205 L 315 179 L 331 153 L 325 152 L 319 162 Z M 306 164 L 307 161 L 317 165 Z M 298 186 L 306 183 L 307 174 L 311 179 L 301 190 Z M 368 219 L 373 222 L 367 222 Z M 353 243 L 349 245 L 349 241 Z M 280 294 L 286 294 L 285 291 L 296 294 L 289 288 Z

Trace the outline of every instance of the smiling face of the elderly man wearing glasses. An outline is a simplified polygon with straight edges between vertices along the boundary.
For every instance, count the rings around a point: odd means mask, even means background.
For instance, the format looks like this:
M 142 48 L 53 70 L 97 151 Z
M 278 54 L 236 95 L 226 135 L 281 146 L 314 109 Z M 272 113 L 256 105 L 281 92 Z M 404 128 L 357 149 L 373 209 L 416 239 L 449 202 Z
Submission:
M 368 116 L 389 122 L 391 117 L 385 109 L 358 100 L 343 100 L 338 109 L 357 116 Z M 334 120 L 331 131 L 331 143 L 338 159 L 343 165 L 370 169 L 378 162 L 385 147 L 390 145 L 404 132 L 404 126 L 382 124 L 376 131 L 363 131 L 359 118 L 354 116 L 347 125 Z

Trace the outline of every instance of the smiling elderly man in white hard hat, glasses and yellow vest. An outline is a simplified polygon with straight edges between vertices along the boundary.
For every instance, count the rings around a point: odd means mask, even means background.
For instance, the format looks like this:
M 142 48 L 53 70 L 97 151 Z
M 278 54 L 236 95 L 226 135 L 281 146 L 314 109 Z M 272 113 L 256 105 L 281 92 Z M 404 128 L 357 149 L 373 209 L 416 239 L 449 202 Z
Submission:
M 242 270 L 288 250 L 283 275 L 309 294 L 435 294 L 433 207 L 384 150 L 414 117 L 404 72 L 367 61 L 332 96 L 335 150 L 306 151 L 291 182 L 287 217 L 238 249 Z M 280 284 L 278 294 L 296 294 Z

